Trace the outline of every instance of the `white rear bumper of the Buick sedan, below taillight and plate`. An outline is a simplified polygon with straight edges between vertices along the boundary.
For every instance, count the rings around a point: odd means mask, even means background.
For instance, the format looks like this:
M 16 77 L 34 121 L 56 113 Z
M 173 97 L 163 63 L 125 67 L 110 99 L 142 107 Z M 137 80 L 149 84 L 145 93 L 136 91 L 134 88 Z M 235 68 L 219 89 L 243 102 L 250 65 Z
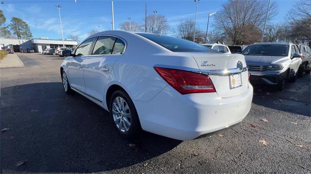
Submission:
M 251 108 L 253 87 L 241 95 L 221 98 L 217 93 L 181 95 L 171 86 L 148 102 L 134 100 L 143 130 L 178 140 L 240 123 Z

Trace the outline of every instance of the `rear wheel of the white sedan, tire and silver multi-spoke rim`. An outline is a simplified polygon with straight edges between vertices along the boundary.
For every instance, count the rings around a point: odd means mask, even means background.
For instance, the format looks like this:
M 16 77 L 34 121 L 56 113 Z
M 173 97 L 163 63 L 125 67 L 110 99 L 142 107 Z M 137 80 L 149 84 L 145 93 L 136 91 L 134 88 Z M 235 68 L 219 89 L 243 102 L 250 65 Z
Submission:
M 139 137 L 142 129 L 138 113 L 129 95 L 121 90 L 115 91 L 110 97 L 109 112 L 112 123 L 122 138 Z

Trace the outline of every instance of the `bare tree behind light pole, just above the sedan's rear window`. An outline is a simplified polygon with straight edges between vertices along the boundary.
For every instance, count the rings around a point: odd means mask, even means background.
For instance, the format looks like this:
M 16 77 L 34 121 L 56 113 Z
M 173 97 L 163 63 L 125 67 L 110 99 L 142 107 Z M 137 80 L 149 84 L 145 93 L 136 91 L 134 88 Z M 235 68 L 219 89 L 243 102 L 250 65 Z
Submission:
M 193 41 L 194 37 L 194 21 L 193 20 L 181 20 L 177 25 L 176 29 L 173 31 L 173 35 L 175 37 L 179 37 L 182 39 L 187 39 Z M 195 31 L 195 38 L 196 42 L 203 42 L 204 40 L 204 33 L 197 27 Z

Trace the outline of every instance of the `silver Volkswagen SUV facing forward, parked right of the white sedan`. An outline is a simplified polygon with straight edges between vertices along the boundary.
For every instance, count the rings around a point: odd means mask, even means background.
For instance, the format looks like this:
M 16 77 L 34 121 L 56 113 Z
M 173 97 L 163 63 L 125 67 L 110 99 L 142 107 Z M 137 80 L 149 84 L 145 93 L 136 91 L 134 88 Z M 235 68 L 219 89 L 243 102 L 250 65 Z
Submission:
M 244 49 L 252 83 L 275 85 L 283 90 L 286 80 L 294 82 L 301 54 L 291 43 L 255 43 Z

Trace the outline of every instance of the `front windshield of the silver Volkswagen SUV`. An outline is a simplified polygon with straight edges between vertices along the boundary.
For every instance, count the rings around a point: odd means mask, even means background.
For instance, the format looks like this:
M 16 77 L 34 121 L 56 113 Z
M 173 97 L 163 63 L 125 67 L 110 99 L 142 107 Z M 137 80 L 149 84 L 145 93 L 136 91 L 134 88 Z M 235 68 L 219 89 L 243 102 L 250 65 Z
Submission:
M 287 56 L 289 45 L 251 45 L 244 49 L 243 55 Z

